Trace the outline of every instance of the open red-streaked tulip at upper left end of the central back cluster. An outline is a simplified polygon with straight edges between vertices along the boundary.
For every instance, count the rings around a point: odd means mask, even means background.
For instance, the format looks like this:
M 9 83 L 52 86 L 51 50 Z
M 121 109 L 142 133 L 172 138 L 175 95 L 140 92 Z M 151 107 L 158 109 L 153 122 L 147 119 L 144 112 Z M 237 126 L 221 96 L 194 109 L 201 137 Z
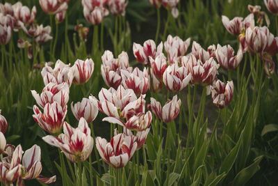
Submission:
M 149 57 L 156 59 L 156 56 L 162 53 L 162 42 L 157 46 L 154 40 L 146 40 L 142 45 L 133 42 L 133 54 L 139 63 L 150 65 Z

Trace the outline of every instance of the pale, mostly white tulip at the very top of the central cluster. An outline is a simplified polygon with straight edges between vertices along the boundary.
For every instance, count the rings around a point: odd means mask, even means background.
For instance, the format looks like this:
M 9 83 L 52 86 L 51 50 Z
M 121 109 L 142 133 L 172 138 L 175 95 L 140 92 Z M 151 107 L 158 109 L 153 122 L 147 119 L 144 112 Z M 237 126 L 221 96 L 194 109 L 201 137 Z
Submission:
M 174 38 L 169 35 L 167 37 L 166 42 L 164 42 L 164 48 L 167 53 L 170 52 L 170 49 L 175 48 L 177 49 L 177 57 L 178 56 L 184 56 L 186 54 L 186 51 L 190 45 L 190 38 L 183 41 L 179 36 L 175 36 Z

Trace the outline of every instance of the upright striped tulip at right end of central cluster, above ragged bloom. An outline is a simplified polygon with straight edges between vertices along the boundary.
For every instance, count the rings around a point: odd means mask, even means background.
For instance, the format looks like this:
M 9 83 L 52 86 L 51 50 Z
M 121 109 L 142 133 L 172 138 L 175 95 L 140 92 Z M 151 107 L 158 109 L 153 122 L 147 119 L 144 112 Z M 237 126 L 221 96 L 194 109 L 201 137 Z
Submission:
M 238 50 L 238 54 L 234 56 L 234 49 L 230 45 L 218 47 L 215 52 L 218 63 L 224 70 L 234 70 L 238 67 L 240 61 L 243 59 L 243 52 L 241 49 Z

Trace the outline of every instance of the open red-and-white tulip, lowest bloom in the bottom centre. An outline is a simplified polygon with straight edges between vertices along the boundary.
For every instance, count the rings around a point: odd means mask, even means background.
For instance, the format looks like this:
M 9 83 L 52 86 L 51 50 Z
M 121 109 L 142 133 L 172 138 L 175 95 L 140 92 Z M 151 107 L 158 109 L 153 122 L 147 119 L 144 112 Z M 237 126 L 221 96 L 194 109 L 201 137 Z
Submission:
M 110 143 L 101 137 L 97 137 L 96 141 L 101 158 L 116 169 L 124 167 L 137 148 L 136 137 L 124 137 L 124 134 L 115 135 Z

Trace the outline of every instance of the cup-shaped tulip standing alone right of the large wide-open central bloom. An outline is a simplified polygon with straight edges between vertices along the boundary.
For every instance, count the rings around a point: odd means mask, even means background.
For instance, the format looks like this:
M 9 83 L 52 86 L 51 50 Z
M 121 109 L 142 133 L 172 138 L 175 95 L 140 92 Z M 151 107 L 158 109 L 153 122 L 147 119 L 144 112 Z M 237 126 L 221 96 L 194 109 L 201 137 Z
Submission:
M 181 100 L 177 100 L 177 95 L 174 95 L 173 99 L 167 101 L 161 108 L 161 103 L 151 98 L 151 107 L 156 117 L 160 118 L 164 123 L 170 123 L 179 115 Z

